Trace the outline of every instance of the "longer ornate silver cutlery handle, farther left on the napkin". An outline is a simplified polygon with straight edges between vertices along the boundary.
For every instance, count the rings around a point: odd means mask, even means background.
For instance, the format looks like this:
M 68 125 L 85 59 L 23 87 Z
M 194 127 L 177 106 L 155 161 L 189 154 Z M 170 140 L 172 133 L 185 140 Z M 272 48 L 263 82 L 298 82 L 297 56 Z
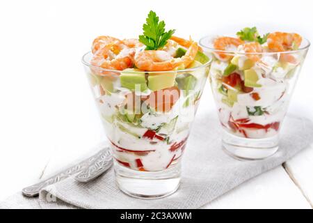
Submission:
M 59 181 L 64 180 L 74 174 L 77 174 L 83 169 L 88 168 L 90 163 L 95 161 L 97 157 L 102 155 L 102 153 L 106 153 L 106 151 L 108 151 L 107 148 L 103 149 L 102 151 L 99 151 L 98 153 L 91 157 L 88 157 L 88 159 L 79 162 L 79 164 L 75 164 L 74 166 L 61 171 L 60 173 L 52 176 L 51 178 L 48 178 L 47 180 L 43 180 L 40 183 L 31 185 L 30 187 L 25 187 L 24 189 L 22 189 L 22 194 L 24 194 L 26 197 L 38 196 L 40 190 L 42 190 L 43 187 L 47 187 L 48 185 L 58 183 Z

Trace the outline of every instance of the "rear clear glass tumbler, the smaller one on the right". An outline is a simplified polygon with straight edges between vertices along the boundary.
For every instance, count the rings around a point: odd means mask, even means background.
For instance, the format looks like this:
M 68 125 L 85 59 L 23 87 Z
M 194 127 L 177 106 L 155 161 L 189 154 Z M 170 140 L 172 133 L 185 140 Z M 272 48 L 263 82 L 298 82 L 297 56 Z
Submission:
M 278 151 L 279 132 L 307 50 L 244 53 L 216 50 L 210 36 L 200 40 L 213 61 L 209 72 L 223 149 L 246 160 Z

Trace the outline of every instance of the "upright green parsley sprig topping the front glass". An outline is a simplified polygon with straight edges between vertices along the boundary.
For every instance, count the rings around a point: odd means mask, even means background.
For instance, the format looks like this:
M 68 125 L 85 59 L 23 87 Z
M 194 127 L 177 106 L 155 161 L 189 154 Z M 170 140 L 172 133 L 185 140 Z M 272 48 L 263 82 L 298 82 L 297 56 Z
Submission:
M 165 31 L 165 22 L 159 22 L 159 17 L 154 11 L 150 11 L 145 24 L 143 24 L 143 35 L 139 36 L 139 41 L 143 43 L 147 50 L 160 49 L 166 45 L 168 39 L 175 33 L 175 29 Z

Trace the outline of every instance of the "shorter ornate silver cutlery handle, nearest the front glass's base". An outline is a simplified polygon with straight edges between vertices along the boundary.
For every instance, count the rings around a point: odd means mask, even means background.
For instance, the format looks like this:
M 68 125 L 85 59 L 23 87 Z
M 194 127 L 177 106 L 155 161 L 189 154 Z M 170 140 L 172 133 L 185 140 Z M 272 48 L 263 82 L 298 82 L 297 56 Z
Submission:
M 94 160 L 86 169 L 75 176 L 75 180 L 86 183 L 103 174 L 113 164 L 111 151 L 104 151 L 96 160 Z

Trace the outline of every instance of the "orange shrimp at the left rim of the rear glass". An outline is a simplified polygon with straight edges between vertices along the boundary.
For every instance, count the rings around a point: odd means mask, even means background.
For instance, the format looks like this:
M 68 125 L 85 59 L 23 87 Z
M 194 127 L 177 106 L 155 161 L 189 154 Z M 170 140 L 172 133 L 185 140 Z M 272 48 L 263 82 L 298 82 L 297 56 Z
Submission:
M 244 43 L 243 40 L 239 38 L 222 36 L 214 40 L 214 49 L 226 51 L 231 47 L 237 48 L 239 45 L 242 45 L 243 43 Z M 230 55 L 227 55 L 224 52 L 217 52 L 217 54 L 218 56 L 220 56 L 220 59 L 229 60 L 231 58 Z

